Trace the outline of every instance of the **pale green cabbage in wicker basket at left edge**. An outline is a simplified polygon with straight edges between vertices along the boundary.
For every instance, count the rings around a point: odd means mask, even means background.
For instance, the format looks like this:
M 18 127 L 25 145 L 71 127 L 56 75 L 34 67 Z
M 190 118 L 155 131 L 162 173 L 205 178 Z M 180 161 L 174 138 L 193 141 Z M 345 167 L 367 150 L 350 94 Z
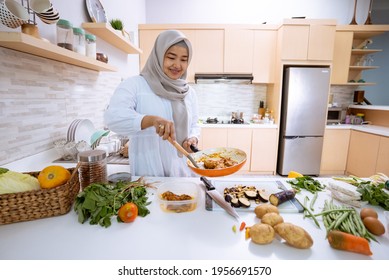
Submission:
M 0 194 L 39 190 L 38 179 L 29 174 L 0 168 Z

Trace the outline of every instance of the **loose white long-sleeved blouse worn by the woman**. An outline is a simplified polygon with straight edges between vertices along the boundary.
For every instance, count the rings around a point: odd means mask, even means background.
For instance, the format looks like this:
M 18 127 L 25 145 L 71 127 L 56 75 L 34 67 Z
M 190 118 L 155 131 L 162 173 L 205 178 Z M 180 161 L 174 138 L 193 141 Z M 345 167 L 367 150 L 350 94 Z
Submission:
M 185 97 L 188 110 L 188 137 L 200 135 L 197 96 L 190 88 Z M 123 81 L 115 90 L 104 113 L 108 129 L 130 139 L 129 161 L 134 176 L 188 177 L 197 176 L 169 141 L 163 140 L 155 127 L 141 129 L 146 115 L 155 115 L 173 121 L 171 102 L 156 95 L 142 76 Z

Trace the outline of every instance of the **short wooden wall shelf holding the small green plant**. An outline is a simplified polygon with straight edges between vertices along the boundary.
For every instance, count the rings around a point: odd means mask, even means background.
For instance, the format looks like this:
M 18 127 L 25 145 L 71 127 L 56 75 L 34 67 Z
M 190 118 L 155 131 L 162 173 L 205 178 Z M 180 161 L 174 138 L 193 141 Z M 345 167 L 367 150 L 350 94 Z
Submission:
M 108 42 L 112 46 L 124 51 L 128 54 L 141 54 L 142 50 L 137 48 L 129 40 L 118 34 L 115 29 L 106 22 L 84 22 L 82 28 L 89 31 L 90 33 L 100 37 L 104 41 Z

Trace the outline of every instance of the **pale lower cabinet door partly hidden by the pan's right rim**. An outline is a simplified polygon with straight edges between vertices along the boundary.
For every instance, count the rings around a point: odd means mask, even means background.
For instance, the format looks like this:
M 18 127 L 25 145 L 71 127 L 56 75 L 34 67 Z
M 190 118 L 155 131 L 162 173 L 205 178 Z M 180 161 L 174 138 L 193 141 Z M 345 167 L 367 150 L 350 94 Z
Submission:
M 247 155 L 246 163 L 240 169 L 243 172 L 250 169 L 252 132 L 250 128 L 229 128 L 227 133 L 227 147 L 240 149 Z

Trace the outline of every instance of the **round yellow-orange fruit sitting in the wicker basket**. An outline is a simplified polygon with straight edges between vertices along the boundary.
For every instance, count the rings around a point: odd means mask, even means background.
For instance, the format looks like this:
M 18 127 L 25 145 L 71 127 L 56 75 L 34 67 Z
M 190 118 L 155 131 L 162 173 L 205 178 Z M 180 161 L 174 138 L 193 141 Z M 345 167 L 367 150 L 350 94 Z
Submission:
M 39 172 L 38 181 L 42 189 L 51 189 L 65 184 L 70 176 L 70 171 L 65 167 L 50 165 Z

